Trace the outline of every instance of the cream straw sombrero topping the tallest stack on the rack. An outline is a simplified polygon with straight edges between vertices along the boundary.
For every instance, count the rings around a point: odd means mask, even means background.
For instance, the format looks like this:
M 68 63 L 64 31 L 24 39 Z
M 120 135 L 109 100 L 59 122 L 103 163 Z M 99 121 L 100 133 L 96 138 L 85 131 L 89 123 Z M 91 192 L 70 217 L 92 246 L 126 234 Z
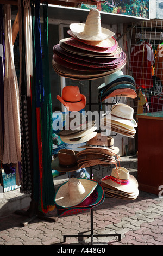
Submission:
M 98 9 L 90 9 L 85 24 L 72 23 L 70 29 L 82 40 L 102 41 L 114 36 L 114 32 L 101 27 L 101 15 Z

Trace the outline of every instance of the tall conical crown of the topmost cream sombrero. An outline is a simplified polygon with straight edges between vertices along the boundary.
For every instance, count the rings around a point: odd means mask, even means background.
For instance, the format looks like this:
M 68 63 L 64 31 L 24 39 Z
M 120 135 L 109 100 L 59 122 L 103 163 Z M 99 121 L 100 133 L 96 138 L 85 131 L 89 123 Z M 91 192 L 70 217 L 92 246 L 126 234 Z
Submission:
M 89 36 L 97 36 L 101 34 L 101 16 L 99 10 L 90 9 L 89 15 L 87 16 L 84 33 Z

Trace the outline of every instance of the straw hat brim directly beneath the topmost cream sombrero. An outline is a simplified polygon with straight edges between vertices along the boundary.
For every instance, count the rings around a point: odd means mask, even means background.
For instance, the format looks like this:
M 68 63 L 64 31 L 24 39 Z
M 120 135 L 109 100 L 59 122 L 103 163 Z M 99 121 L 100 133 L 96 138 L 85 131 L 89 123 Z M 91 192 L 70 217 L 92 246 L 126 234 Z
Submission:
M 70 36 L 72 36 L 74 39 L 77 39 L 80 42 L 83 42 L 84 44 L 93 45 L 99 48 L 112 48 L 112 50 L 114 50 L 113 46 L 115 46 L 115 44 L 117 43 L 116 39 L 113 36 L 111 38 L 108 38 L 102 41 L 88 41 L 88 40 L 82 40 L 80 38 L 77 38 L 77 36 L 75 36 L 70 29 L 67 31 L 67 33 Z

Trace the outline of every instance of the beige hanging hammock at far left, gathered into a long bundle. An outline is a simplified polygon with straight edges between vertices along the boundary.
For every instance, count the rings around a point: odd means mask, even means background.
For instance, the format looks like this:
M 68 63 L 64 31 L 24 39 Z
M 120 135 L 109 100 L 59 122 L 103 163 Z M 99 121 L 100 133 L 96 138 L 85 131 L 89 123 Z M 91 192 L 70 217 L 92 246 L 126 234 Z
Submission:
M 11 6 L 5 11 L 4 154 L 3 164 L 21 162 L 19 93 L 12 46 Z M 16 184 L 20 176 L 16 168 Z

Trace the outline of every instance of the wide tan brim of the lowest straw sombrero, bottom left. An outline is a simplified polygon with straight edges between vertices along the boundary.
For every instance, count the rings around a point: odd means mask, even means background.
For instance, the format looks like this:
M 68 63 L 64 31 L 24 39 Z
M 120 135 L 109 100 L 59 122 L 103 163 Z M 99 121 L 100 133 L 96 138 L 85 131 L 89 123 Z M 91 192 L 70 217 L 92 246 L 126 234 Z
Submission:
M 58 188 L 58 191 L 55 193 L 54 201 L 56 205 L 61 206 L 62 208 L 78 205 L 79 203 L 82 203 L 84 199 L 89 197 L 98 185 L 98 182 L 95 180 L 85 178 L 78 178 L 78 180 L 80 180 L 85 189 L 85 192 L 80 196 L 80 198 L 77 198 L 75 201 L 70 199 L 68 193 L 68 181 L 66 181 Z

